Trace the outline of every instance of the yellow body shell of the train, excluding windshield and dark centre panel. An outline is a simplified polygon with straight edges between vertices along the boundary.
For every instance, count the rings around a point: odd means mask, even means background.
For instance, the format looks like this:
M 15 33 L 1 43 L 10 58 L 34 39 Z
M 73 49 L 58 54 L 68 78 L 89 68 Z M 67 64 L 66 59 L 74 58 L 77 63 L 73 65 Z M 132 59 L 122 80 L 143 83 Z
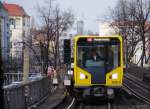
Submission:
M 77 65 L 77 48 L 78 48 L 78 40 L 81 38 L 96 38 L 96 39 L 118 39 L 119 40 L 119 66 L 107 72 L 105 75 L 105 83 L 104 84 L 93 84 L 92 83 L 92 75 L 88 71 Z M 122 37 L 121 36 L 76 36 L 74 38 L 74 87 L 88 87 L 88 86 L 107 86 L 107 87 L 121 87 L 122 79 L 123 79 L 123 45 L 122 45 Z M 85 79 L 80 79 L 80 73 L 86 75 Z M 100 72 L 99 72 L 100 73 Z M 112 79 L 111 76 L 113 74 L 117 75 L 117 78 Z

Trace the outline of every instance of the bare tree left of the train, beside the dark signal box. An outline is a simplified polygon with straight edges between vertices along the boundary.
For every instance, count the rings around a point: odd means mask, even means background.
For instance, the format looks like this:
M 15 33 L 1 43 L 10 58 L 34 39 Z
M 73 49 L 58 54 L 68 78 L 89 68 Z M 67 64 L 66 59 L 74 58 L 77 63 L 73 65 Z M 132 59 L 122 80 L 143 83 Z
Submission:
M 41 57 L 43 61 L 43 72 L 47 73 L 49 58 L 53 55 L 54 67 L 56 68 L 59 59 L 59 37 L 66 31 L 74 21 L 74 16 L 71 11 L 62 12 L 58 5 L 54 5 L 52 0 L 46 1 L 45 6 L 37 6 L 37 10 L 42 25 L 43 42 L 41 43 Z M 50 43 L 52 45 L 50 46 Z M 52 49 L 52 52 L 50 52 Z

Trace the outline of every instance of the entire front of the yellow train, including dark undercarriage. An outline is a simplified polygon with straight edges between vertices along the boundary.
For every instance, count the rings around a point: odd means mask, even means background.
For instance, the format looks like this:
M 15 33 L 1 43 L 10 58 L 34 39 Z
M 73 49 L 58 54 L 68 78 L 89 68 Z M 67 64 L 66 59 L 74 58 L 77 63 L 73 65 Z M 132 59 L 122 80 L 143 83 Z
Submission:
M 77 36 L 74 44 L 75 93 L 114 98 L 123 78 L 121 36 Z

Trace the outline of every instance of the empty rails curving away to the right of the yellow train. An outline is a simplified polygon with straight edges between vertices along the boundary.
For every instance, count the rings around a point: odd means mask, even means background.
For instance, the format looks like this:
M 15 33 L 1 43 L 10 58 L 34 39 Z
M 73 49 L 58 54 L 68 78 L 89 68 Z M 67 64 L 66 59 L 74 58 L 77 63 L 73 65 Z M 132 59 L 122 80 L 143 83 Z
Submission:
M 134 78 L 125 76 L 123 88 L 138 99 L 150 104 L 150 88 L 142 85 L 140 81 L 135 81 Z

